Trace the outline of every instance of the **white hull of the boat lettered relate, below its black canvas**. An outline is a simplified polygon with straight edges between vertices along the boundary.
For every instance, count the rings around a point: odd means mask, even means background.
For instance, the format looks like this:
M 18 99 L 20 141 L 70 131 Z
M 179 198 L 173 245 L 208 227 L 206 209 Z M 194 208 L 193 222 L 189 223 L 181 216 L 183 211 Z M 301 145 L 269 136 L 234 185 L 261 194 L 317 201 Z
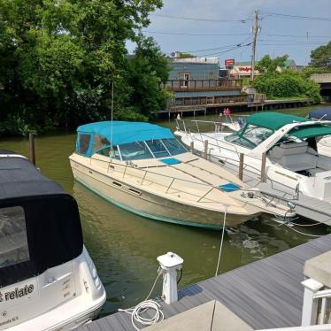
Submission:
M 4 294 L 14 288 L 35 285 L 34 292 L 22 298 L 25 302 L 11 307 L 6 307 L 5 301 L 0 303 L 3 312 L 0 330 L 70 330 L 95 318 L 104 305 L 106 294 L 96 271 L 91 272 L 93 268 L 95 266 L 84 248 L 78 258 L 62 266 L 1 289 Z

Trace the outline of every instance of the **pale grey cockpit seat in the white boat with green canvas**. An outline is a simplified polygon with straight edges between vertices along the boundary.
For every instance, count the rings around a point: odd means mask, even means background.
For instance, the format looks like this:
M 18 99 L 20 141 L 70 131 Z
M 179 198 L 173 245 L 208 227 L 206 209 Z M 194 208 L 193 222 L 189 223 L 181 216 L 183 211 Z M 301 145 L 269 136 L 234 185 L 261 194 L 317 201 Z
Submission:
M 316 168 L 318 159 L 308 152 L 308 142 L 281 143 L 279 146 L 273 147 L 269 157 L 294 172 Z

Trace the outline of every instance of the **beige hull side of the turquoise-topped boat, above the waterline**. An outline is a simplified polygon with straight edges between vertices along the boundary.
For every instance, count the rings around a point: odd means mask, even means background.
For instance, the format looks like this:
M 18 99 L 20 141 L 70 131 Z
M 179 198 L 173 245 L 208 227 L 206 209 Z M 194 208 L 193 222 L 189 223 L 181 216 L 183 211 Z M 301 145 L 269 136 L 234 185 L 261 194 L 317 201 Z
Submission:
M 150 219 L 158 219 L 165 222 L 189 225 L 193 227 L 221 228 L 224 212 L 216 212 L 206 208 L 198 208 L 194 205 L 184 204 L 166 199 L 143 189 L 142 186 L 130 186 L 126 181 L 113 178 L 111 173 L 99 173 L 93 167 L 82 165 L 73 158 L 70 159 L 73 177 L 87 188 L 94 191 L 104 199 L 119 207 L 135 212 L 138 215 Z M 119 183 L 114 185 L 113 181 Z M 133 193 L 139 191 L 140 194 Z M 227 212 L 226 226 L 234 227 L 248 219 L 257 216 L 260 212 L 256 208 L 251 213 L 238 214 Z

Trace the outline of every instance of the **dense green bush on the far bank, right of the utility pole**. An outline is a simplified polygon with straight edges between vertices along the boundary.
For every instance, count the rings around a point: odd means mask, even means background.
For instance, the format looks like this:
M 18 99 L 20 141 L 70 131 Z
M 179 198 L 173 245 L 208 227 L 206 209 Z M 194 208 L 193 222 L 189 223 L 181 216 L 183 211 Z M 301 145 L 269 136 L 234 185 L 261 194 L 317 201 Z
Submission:
M 320 102 L 319 84 L 291 70 L 261 74 L 256 77 L 254 86 L 258 93 L 264 93 L 270 99 L 304 97 L 312 99 L 314 104 Z

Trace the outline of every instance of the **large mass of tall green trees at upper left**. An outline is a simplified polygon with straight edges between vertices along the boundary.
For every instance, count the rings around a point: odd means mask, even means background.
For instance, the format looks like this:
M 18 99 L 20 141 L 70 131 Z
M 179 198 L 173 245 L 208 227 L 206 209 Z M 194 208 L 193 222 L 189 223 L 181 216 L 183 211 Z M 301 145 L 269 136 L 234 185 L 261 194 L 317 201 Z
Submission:
M 109 119 L 112 81 L 115 116 L 150 117 L 166 70 L 151 65 L 160 61 L 156 48 L 144 62 L 139 52 L 150 44 L 136 31 L 161 6 L 161 0 L 0 0 L 0 135 Z M 142 73 L 138 62 L 132 69 L 127 40 L 138 42 Z M 144 88 L 131 85 L 131 74 Z

